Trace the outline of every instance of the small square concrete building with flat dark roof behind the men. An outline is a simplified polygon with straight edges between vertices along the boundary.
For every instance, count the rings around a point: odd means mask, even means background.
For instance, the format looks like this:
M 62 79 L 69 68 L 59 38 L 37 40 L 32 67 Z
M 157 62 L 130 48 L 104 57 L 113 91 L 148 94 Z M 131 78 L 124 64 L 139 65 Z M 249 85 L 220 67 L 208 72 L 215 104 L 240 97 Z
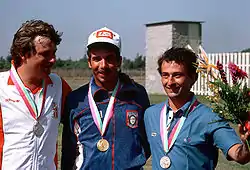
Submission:
M 185 47 L 190 44 L 197 52 L 201 44 L 200 21 L 167 21 L 146 24 L 146 72 L 145 87 L 149 94 L 163 94 L 160 76 L 157 72 L 159 56 L 171 47 Z

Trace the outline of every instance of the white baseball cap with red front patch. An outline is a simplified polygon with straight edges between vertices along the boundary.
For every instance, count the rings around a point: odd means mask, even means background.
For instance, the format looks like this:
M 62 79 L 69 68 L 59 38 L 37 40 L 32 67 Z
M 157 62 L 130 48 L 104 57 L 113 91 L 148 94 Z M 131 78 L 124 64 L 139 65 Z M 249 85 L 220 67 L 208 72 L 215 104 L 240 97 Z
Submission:
M 107 27 L 103 27 L 92 32 L 89 35 L 87 47 L 98 42 L 113 44 L 118 47 L 119 50 L 121 50 L 120 35 L 112 31 L 111 29 L 108 29 Z

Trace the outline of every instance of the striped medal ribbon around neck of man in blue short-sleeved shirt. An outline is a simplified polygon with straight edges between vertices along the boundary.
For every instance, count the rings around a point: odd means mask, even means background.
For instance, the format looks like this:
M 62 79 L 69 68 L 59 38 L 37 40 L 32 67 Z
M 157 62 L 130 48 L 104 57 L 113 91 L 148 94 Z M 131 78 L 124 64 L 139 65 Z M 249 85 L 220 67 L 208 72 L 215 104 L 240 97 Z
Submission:
M 169 150 L 173 146 L 174 142 L 176 141 L 177 136 L 179 135 L 181 128 L 182 128 L 188 114 L 190 112 L 192 112 L 198 104 L 199 104 L 199 102 L 195 99 L 195 97 L 193 97 L 189 108 L 184 113 L 184 115 L 180 118 L 180 120 L 176 123 L 172 132 L 170 133 L 169 139 L 168 139 L 168 132 L 170 130 L 170 124 L 171 124 L 171 121 L 172 121 L 174 116 L 173 116 L 173 111 L 170 110 L 169 114 L 168 114 L 168 120 L 166 123 L 167 106 L 166 106 L 166 104 L 163 106 L 163 108 L 161 110 L 161 115 L 160 115 L 160 134 L 161 134 L 163 149 L 166 153 L 169 152 Z

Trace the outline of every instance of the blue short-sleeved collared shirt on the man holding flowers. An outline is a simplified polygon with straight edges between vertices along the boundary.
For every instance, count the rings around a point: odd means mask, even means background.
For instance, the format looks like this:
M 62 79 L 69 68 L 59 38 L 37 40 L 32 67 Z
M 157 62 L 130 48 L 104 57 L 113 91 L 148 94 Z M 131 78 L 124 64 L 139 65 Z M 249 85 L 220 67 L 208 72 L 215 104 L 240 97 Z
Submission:
M 170 129 L 180 119 L 189 107 L 191 101 L 183 105 L 175 114 Z M 168 170 L 215 169 L 218 161 L 218 149 L 227 157 L 228 150 L 235 144 L 241 143 L 235 130 L 229 126 L 211 108 L 199 105 L 189 113 L 182 129 L 166 154 L 160 136 L 160 113 L 168 101 L 153 105 L 145 111 L 144 122 L 147 138 L 152 153 L 152 169 L 160 170 L 160 159 L 167 155 L 171 159 Z M 171 130 L 170 130 L 171 132 Z

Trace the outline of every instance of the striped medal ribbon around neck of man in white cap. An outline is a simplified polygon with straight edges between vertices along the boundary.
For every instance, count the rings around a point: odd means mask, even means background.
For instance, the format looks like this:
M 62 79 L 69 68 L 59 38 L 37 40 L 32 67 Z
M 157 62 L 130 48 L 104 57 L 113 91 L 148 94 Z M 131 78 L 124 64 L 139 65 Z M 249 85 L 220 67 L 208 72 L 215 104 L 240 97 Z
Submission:
M 97 128 L 99 129 L 101 136 L 103 136 L 105 131 L 106 131 L 106 128 L 108 126 L 109 120 L 111 119 L 111 117 L 114 114 L 113 109 L 114 109 L 115 97 L 120 89 L 120 81 L 118 80 L 118 82 L 116 83 L 115 89 L 112 92 L 112 95 L 110 97 L 109 104 L 108 104 L 108 107 L 106 109 L 106 113 L 105 113 L 103 122 L 102 122 L 101 116 L 99 114 L 98 108 L 96 106 L 96 103 L 93 99 L 92 93 L 91 93 L 91 86 L 92 86 L 93 81 L 94 80 L 92 78 L 90 83 L 89 83 L 89 91 L 88 91 L 89 106 L 90 106 L 90 110 L 91 110 L 91 114 L 92 114 L 92 117 L 94 119 L 94 122 L 95 122 Z

